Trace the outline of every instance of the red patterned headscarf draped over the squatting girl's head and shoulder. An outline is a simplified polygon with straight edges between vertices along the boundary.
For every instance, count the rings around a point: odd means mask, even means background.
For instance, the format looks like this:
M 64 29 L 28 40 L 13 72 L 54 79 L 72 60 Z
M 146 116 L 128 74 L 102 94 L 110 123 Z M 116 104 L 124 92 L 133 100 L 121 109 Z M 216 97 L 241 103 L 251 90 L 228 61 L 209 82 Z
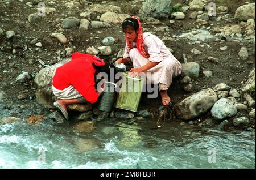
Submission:
M 144 44 L 143 44 L 143 32 L 142 32 L 142 28 L 141 28 L 141 22 L 139 22 L 139 19 L 135 16 L 132 16 L 131 18 L 134 18 L 137 20 L 138 24 L 139 24 L 139 28 L 137 29 L 137 40 L 136 40 L 136 45 L 137 45 L 137 49 L 139 50 L 139 53 L 141 53 L 141 55 L 143 55 L 145 58 L 149 58 L 150 55 L 146 53 L 145 49 L 144 49 Z M 131 43 L 127 40 L 126 38 L 126 43 L 128 45 L 128 48 L 131 50 L 134 47 L 131 45 Z

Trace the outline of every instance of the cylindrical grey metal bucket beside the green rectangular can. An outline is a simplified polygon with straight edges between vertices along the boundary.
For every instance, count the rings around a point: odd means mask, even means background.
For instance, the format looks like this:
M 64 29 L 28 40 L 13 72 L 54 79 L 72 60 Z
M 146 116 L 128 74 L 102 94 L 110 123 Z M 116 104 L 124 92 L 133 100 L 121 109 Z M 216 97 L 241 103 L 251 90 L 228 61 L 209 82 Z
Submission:
M 98 109 L 104 112 L 111 112 L 114 105 L 115 88 L 117 87 L 117 84 L 114 84 L 112 82 L 105 82 L 105 83 L 106 83 L 106 89 L 100 97 L 100 101 L 98 103 Z

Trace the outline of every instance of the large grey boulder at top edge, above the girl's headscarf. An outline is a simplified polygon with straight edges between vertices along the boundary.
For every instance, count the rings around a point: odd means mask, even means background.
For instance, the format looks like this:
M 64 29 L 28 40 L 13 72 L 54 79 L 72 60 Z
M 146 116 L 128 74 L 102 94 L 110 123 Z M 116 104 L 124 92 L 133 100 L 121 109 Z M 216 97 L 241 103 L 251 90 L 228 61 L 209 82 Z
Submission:
M 139 17 L 152 17 L 156 19 L 167 19 L 171 15 L 171 0 L 146 0 L 139 10 Z

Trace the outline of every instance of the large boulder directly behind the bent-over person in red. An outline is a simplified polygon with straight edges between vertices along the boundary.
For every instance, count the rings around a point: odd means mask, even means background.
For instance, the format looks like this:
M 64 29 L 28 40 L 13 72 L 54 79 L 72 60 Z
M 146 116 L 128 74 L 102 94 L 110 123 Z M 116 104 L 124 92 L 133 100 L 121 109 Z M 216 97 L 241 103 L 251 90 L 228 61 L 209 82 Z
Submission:
M 35 76 L 35 80 L 34 80 L 36 85 L 35 95 L 36 95 L 36 101 L 38 101 L 39 104 L 42 104 L 47 108 L 55 108 L 55 106 L 53 106 L 53 102 L 56 101 L 56 97 L 52 93 L 53 73 L 55 72 L 57 67 L 64 65 L 70 60 L 71 58 L 64 59 L 63 61 L 60 61 L 55 65 L 43 68 Z

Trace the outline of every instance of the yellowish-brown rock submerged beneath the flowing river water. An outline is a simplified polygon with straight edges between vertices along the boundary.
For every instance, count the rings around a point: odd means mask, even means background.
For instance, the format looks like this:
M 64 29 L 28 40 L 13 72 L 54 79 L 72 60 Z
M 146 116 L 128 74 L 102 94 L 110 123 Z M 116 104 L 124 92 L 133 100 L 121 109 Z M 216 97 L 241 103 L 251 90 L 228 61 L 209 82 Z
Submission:
M 92 149 L 98 148 L 98 143 L 94 139 L 79 138 L 75 141 L 75 145 L 80 151 L 91 151 Z

